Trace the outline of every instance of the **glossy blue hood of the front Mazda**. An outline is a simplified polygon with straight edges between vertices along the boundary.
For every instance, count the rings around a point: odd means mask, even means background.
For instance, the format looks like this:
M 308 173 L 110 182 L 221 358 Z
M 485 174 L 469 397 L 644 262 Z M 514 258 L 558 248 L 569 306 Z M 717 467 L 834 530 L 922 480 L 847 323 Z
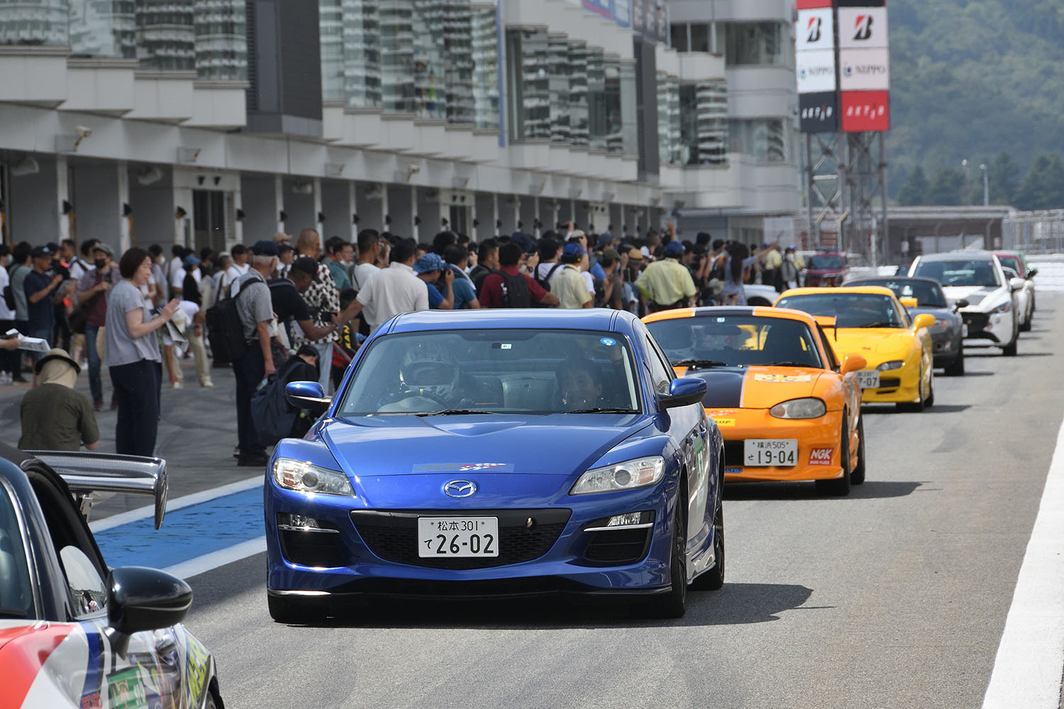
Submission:
M 644 413 L 386 416 L 331 420 L 317 436 L 354 478 L 471 472 L 572 475 L 650 424 Z

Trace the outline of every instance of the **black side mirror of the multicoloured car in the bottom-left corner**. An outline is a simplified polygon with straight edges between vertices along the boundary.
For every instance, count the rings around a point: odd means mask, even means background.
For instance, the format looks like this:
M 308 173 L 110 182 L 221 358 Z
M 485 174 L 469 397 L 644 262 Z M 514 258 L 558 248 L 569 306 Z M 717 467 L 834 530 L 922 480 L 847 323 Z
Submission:
M 193 605 L 188 584 L 165 571 L 121 567 L 107 574 L 107 637 L 124 656 L 130 636 L 180 623 Z

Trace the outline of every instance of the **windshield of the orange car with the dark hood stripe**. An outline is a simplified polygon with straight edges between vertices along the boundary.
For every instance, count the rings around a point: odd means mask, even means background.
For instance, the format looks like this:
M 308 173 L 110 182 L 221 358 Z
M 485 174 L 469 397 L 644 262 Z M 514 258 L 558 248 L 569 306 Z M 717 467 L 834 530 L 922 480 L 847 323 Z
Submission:
M 649 322 L 647 328 L 678 367 L 821 367 L 809 325 L 788 318 L 675 318 Z

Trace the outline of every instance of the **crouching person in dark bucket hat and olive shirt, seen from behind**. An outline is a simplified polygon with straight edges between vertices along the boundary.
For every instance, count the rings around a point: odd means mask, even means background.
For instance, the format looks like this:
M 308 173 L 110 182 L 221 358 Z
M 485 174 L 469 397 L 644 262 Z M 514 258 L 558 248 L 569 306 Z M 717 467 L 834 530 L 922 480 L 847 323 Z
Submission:
M 95 451 L 100 442 L 88 396 L 74 390 L 78 366 L 66 350 L 52 349 L 34 366 L 35 386 L 22 396 L 23 451 Z

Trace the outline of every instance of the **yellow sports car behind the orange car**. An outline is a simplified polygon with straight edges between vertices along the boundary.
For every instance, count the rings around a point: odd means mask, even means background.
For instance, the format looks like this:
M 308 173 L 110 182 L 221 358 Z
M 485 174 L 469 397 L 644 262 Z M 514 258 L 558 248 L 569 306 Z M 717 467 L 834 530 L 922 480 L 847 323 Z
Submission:
M 839 357 L 859 354 L 867 368 L 858 372 L 866 404 L 898 405 L 922 411 L 934 404 L 934 349 L 928 328 L 933 315 L 910 318 L 890 288 L 794 288 L 777 307 L 835 318 L 828 337 Z

